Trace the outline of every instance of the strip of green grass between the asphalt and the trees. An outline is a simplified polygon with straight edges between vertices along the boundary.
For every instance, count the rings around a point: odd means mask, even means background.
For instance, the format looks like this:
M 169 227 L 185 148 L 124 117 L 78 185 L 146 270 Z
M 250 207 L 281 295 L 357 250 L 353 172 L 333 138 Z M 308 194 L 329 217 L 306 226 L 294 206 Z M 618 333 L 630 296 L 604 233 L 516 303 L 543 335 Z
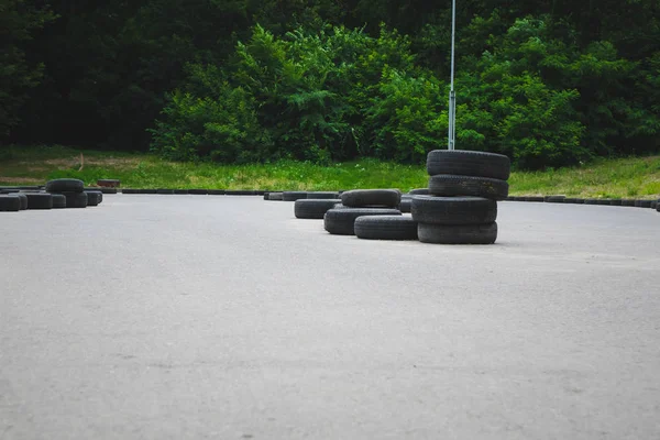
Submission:
M 80 153 L 85 167 L 80 167 Z M 280 161 L 273 164 L 217 165 L 164 161 L 152 154 L 74 150 L 65 146 L 6 146 L 0 151 L 0 185 L 35 185 L 58 177 L 95 185 L 118 178 L 124 188 L 222 188 L 337 190 L 399 188 L 428 184 L 424 165 L 375 160 L 331 166 Z M 510 194 L 590 198 L 660 197 L 660 156 L 598 160 L 580 168 L 513 173 Z

